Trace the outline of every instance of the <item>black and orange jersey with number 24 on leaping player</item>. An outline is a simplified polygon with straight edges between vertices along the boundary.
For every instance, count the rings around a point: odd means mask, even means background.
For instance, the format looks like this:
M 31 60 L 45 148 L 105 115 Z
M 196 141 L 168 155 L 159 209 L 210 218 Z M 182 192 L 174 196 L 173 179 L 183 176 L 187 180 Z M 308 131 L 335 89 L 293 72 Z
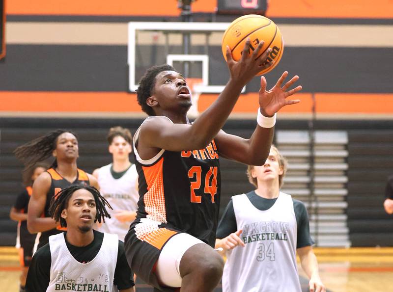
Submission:
M 220 162 L 213 141 L 206 148 L 173 152 L 162 149 L 142 160 L 135 144 L 139 174 L 137 218 L 186 232 L 214 246 L 220 209 Z M 142 220 L 143 221 L 143 220 Z

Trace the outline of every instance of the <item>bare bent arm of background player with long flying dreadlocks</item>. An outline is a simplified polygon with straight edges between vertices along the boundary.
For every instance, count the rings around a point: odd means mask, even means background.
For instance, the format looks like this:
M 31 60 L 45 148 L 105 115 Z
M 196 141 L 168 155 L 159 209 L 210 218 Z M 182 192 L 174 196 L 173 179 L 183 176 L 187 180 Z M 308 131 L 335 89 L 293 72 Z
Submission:
M 41 217 L 44 213 L 47 193 L 51 187 L 51 176 L 43 172 L 34 181 L 33 192 L 28 202 L 28 231 L 30 233 L 43 232 L 56 228 L 57 224 L 50 217 Z

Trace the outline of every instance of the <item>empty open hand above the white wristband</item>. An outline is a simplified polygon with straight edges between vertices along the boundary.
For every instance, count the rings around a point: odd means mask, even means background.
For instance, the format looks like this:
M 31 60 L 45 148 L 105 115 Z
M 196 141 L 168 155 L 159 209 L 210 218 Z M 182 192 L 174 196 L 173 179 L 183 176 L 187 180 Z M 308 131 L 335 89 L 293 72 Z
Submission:
M 261 87 L 259 89 L 259 106 L 262 110 L 262 114 L 267 117 L 273 116 L 276 112 L 280 110 L 281 107 L 287 105 L 294 105 L 300 103 L 300 100 L 287 100 L 286 98 L 302 90 L 302 86 L 299 85 L 291 90 L 287 89 L 291 87 L 297 80 L 299 76 L 295 75 L 291 80 L 286 82 L 284 86 L 281 87 L 285 78 L 288 76 L 288 72 L 282 73 L 281 77 L 277 81 L 276 85 L 272 89 L 266 90 L 266 79 L 261 77 Z

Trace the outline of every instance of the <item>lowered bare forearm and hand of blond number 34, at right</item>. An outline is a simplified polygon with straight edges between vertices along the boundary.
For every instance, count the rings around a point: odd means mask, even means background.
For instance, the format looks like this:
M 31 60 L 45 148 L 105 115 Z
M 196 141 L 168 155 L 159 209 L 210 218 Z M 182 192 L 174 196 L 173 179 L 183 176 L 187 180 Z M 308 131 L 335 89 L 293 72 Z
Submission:
M 310 292 L 326 292 L 325 285 L 323 285 L 319 277 L 318 261 L 312 250 L 312 246 L 305 246 L 297 249 L 303 270 L 309 277 L 309 291 Z

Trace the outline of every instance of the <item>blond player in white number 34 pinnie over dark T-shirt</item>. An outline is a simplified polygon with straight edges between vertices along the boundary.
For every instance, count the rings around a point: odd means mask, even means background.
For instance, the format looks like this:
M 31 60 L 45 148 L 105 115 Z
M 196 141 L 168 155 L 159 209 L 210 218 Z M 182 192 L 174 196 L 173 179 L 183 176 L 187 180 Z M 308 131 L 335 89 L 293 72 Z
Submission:
M 285 172 L 286 161 L 272 146 L 264 165 L 248 167 L 256 189 L 229 201 L 216 240 L 216 248 L 224 248 L 227 256 L 224 292 L 301 292 L 296 251 L 310 278 L 310 292 L 325 292 L 311 247 L 306 207 L 280 192 Z

